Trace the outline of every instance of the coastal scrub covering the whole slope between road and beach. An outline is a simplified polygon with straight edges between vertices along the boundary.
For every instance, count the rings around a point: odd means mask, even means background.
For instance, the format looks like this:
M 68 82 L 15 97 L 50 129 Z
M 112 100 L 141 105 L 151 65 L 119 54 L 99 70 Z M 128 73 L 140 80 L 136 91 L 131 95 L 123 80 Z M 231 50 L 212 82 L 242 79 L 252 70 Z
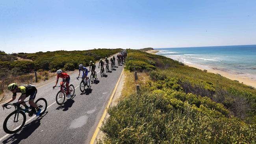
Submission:
M 256 142 L 256 89 L 167 57 L 127 51 L 126 63 L 141 61 L 155 68 L 135 66 L 149 78 L 140 82 L 138 93 L 127 89 L 130 93 L 126 90 L 108 109 L 109 117 L 100 128 L 105 134 L 102 142 Z M 133 71 L 131 67 L 126 69 Z M 132 79 L 133 74 L 129 76 Z

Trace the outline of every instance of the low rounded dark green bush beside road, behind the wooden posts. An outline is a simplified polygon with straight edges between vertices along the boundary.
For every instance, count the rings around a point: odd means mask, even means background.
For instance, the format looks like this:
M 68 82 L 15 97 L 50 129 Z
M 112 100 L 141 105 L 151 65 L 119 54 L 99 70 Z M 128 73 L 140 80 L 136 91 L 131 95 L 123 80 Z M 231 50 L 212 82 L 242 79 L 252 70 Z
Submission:
M 134 60 L 126 62 L 126 69 L 130 71 L 134 71 L 134 65 L 135 65 L 135 70 L 138 70 L 138 71 L 143 71 L 143 70 L 151 71 L 156 69 L 155 66 L 152 66 L 146 62 L 134 61 Z

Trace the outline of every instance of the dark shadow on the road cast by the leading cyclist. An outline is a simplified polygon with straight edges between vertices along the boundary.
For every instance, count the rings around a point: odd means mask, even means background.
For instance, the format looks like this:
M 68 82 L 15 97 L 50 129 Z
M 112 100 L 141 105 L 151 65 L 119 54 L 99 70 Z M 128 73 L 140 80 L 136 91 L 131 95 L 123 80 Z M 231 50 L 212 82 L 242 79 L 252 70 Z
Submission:
M 11 142 L 11 144 L 18 144 L 21 140 L 28 138 L 40 125 L 41 119 L 48 113 L 45 112 L 42 116 L 33 120 L 31 123 L 26 124 L 18 133 L 15 133 L 3 141 L 4 144 Z

